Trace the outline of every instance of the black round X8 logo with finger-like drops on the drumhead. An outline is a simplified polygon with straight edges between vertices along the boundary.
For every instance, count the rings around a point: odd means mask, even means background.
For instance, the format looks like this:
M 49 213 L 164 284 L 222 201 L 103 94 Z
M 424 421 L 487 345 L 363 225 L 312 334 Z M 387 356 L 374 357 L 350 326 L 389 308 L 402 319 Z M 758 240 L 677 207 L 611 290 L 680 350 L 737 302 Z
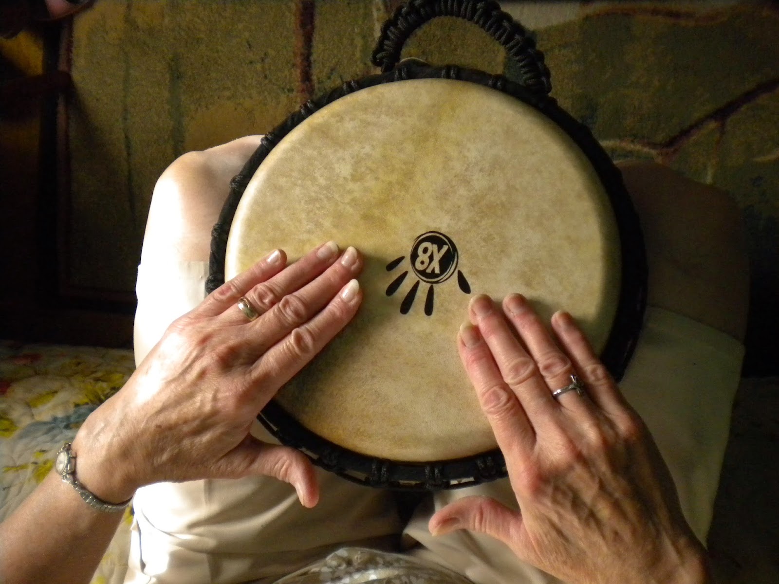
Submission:
M 457 246 L 454 245 L 454 241 L 448 235 L 442 234 L 440 231 L 428 231 L 421 234 L 414 240 L 414 244 L 411 245 L 411 253 L 408 257 L 411 261 L 411 269 L 414 271 L 414 275 L 418 277 L 418 280 L 414 282 L 400 303 L 401 314 L 408 314 L 408 311 L 411 310 L 411 306 L 414 304 L 414 299 L 417 297 L 419 283 L 425 282 L 429 284 L 428 294 L 425 297 L 425 315 L 432 315 L 435 300 L 435 284 L 441 284 L 449 280 L 455 270 L 460 290 L 465 294 L 471 294 L 471 285 L 466 280 L 464 274 L 457 269 L 457 264 L 460 261 Z M 393 259 L 392 262 L 387 264 L 387 272 L 392 272 L 393 269 L 400 266 L 404 259 L 406 259 L 405 255 Z M 401 284 L 406 280 L 406 276 L 408 276 L 408 270 L 405 270 L 390 283 L 386 290 L 387 296 L 392 296 L 400 289 Z

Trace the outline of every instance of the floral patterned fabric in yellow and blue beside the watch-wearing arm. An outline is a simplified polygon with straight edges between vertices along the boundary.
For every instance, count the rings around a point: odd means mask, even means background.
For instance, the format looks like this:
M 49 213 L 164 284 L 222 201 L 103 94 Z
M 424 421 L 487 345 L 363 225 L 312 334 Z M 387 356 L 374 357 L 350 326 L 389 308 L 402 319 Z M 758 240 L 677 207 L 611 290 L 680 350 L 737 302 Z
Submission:
M 134 369 L 132 350 L 0 341 L 0 521 L 41 483 L 62 443 Z M 128 509 L 93 584 L 124 580 L 131 522 Z

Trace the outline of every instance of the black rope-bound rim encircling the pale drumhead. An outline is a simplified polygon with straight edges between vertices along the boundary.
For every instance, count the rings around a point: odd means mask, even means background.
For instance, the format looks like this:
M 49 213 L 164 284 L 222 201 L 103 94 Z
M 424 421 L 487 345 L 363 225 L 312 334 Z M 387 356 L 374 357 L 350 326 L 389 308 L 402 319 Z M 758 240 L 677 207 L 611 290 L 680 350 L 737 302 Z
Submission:
M 535 95 L 504 76 L 489 75 L 476 69 L 464 69 L 454 65 L 433 67 L 411 61 L 390 72 L 348 81 L 330 93 L 309 100 L 298 111 L 290 114 L 263 137 L 252 157 L 231 181 L 230 193 L 212 231 L 206 294 L 224 283 L 227 237 L 235 210 L 252 176 L 273 147 L 308 116 L 334 100 L 367 87 L 383 83 L 402 83 L 407 79 L 456 79 L 506 93 L 534 107 L 555 122 L 590 161 L 615 213 L 622 252 L 619 302 L 612 330 L 601 352 L 601 361 L 619 382 L 635 350 L 647 304 L 646 252 L 639 219 L 622 181 L 622 173 L 594 139 L 590 129 L 559 107 L 554 98 Z M 508 474 L 506 461 L 499 449 L 461 459 L 435 460 L 429 463 L 409 463 L 365 456 L 314 434 L 294 420 L 294 417 L 273 399 L 263 408 L 257 419 L 282 444 L 301 450 L 315 465 L 358 484 L 400 491 L 437 491 L 469 487 L 506 477 Z

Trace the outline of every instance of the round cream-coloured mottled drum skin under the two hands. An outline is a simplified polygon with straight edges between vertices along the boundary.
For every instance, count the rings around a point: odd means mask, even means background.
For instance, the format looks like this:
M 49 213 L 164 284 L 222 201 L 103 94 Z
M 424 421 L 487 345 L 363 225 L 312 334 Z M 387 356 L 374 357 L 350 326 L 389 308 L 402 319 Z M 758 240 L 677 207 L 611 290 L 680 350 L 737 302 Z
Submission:
M 472 295 L 570 311 L 597 351 L 612 330 L 619 230 L 600 179 L 558 125 L 487 86 L 407 79 L 315 111 L 245 188 L 224 276 L 330 239 L 364 255 L 363 304 L 275 400 L 365 456 L 496 448 L 456 350 Z

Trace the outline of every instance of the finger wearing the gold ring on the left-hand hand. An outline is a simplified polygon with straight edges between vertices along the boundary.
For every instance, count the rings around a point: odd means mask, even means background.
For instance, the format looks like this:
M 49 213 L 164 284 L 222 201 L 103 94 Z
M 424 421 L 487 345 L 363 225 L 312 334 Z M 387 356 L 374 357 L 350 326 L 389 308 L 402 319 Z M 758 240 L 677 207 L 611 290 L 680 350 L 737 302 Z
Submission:
M 320 245 L 312 252 L 304 255 L 291 266 L 287 266 L 287 269 L 284 269 L 283 272 L 278 273 L 273 278 L 259 281 L 254 287 L 245 290 L 245 293 L 241 295 L 246 297 L 259 315 L 263 315 L 277 306 L 288 294 L 297 292 L 301 287 L 304 287 L 322 274 L 333 264 L 337 257 L 338 245 L 335 241 L 328 241 L 326 244 Z M 345 281 L 347 280 L 340 282 L 336 290 L 343 286 Z M 335 294 L 335 290 L 333 290 L 333 294 Z M 326 300 L 329 299 L 327 298 Z M 231 324 L 241 325 L 248 322 L 246 316 L 237 307 L 227 310 L 225 316 L 229 317 L 227 322 Z M 257 320 L 260 320 L 260 318 Z

